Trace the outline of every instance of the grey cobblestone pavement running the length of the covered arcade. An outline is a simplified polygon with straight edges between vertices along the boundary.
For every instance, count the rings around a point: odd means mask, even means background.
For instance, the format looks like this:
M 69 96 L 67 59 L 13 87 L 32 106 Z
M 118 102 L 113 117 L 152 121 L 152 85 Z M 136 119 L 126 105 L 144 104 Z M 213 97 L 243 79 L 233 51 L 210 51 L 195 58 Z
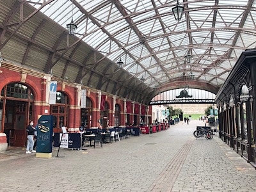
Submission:
M 256 191 L 256 171 L 218 138 L 195 139 L 199 120 L 49 159 L 0 154 L 1 191 Z M 13 152 L 13 155 L 12 155 Z

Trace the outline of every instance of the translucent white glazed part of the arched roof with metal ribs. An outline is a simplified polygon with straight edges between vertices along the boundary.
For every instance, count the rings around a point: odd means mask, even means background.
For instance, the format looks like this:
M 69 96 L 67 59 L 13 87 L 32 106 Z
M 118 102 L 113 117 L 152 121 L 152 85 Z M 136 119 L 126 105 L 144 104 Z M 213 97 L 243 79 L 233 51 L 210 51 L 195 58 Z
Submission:
M 39 8 L 45 0 L 28 2 Z M 184 0 L 182 19 L 177 1 L 55 0 L 41 12 L 151 88 L 187 79 L 220 88 L 242 51 L 254 48 L 255 1 Z M 191 63 L 185 56 L 190 52 Z

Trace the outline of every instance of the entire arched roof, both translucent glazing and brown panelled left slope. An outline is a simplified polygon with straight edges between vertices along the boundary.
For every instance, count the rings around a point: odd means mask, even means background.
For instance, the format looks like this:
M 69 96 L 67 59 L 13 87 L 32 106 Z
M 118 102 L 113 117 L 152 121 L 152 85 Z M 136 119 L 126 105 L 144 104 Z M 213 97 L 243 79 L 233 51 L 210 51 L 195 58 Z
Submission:
M 177 21 L 176 0 L 1 1 L 1 55 L 138 102 L 180 88 L 191 72 L 189 87 L 216 93 L 241 52 L 255 48 L 255 0 L 179 3 L 184 14 Z M 72 18 L 76 36 L 67 35 Z

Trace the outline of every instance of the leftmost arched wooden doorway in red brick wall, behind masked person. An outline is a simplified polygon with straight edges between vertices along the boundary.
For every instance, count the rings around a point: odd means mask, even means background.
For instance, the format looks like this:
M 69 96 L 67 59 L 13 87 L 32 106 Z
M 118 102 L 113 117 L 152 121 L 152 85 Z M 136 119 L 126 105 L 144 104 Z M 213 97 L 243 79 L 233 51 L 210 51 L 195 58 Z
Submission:
M 26 126 L 33 120 L 34 96 L 25 84 L 6 84 L 1 90 L 1 126 L 10 146 L 26 145 Z

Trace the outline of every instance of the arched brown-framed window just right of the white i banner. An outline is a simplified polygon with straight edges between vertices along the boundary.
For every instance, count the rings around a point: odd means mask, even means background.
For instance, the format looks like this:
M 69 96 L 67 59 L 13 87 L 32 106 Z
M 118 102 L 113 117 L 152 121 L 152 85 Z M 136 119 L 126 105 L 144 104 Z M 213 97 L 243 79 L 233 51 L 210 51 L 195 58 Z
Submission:
M 53 127 L 61 128 L 67 126 L 68 97 L 63 92 L 56 93 L 56 104 L 51 105 Z

